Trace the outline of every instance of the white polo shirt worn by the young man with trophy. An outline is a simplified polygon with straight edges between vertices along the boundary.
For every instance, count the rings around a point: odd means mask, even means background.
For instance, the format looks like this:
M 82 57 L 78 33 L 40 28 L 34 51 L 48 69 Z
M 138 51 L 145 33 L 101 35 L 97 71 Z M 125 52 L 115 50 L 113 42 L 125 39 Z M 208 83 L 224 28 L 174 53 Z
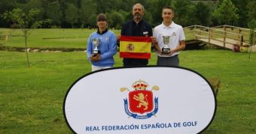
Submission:
M 153 31 L 153 36 L 156 37 L 157 43 L 160 46 L 160 49 L 162 49 L 164 46 L 162 36 L 168 36 L 168 35 L 171 36 L 169 38 L 169 44 L 168 44 L 170 49 L 175 49 L 177 46 L 180 45 L 181 40 L 185 40 L 184 31 L 181 25 L 177 25 L 173 21 L 169 26 L 166 26 L 162 23 L 160 25 L 157 25 Z M 174 52 L 172 55 L 160 55 L 160 53 L 157 52 L 157 55 L 160 57 L 171 57 L 174 55 L 178 55 L 178 53 L 179 52 Z

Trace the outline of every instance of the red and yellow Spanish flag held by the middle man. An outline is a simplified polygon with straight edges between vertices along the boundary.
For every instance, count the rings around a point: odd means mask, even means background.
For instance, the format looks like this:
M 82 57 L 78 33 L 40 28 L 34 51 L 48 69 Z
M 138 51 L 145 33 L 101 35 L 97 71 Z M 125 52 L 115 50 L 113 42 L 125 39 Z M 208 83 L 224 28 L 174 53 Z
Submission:
M 120 37 L 120 58 L 151 58 L 151 37 Z

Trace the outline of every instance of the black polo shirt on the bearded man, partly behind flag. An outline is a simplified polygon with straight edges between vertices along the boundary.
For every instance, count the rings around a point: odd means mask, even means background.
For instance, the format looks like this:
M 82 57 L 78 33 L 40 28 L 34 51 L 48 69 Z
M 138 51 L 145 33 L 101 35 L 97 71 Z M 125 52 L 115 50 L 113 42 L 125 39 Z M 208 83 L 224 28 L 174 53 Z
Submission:
M 139 37 L 151 37 L 153 36 L 152 27 L 144 20 L 139 23 L 130 20 L 123 24 L 121 35 L 123 36 L 139 36 Z M 146 66 L 148 59 L 145 58 L 123 58 L 123 67 L 130 66 Z

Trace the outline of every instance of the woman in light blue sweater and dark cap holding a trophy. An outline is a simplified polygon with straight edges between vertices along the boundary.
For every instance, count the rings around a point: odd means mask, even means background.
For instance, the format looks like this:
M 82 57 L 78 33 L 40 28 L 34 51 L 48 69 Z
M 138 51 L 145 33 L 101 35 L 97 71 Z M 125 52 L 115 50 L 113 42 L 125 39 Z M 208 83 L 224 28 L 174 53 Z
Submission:
M 96 21 L 98 30 L 90 34 L 87 40 L 87 58 L 92 64 L 92 71 L 113 67 L 113 56 L 117 53 L 117 39 L 115 34 L 107 28 L 107 16 L 99 13 Z M 97 43 L 99 46 L 96 46 Z M 98 53 L 96 49 L 99 49 Z

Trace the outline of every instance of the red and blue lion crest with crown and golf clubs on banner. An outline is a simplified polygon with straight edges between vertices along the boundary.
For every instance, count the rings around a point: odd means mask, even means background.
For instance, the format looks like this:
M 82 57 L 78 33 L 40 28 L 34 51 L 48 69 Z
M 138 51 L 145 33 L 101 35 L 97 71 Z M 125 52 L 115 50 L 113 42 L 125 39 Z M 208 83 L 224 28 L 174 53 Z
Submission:
M 132 85 L 134 91 L 130 91 L 128 88 L 120 88 L 121 92 L 129 91 L 128 100 L 127 98 L 123 99 L 124 110 L 129 117 L 146 119 L 157 114 L 158 97 L 154 97 L 152 91 L 159 91 L 159 87 L 154 85 L 151 91 L 148 91 L 146 90 L 148 86 L 147 82 L 139 79 Z

